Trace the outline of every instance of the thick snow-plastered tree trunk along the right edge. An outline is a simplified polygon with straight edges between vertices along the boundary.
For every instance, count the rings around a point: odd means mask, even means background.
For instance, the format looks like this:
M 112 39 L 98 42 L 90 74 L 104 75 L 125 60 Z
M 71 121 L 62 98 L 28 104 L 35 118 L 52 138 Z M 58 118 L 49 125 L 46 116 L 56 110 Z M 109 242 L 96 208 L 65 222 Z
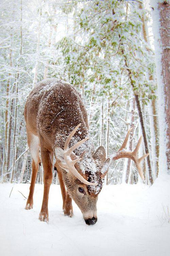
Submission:
M 170 79 L 168 73 L 170 4 L 168 1 L 157 0 L 153 2 L 152 9 L 159 109 L 159 169 L 163 173 L 170 169 Z

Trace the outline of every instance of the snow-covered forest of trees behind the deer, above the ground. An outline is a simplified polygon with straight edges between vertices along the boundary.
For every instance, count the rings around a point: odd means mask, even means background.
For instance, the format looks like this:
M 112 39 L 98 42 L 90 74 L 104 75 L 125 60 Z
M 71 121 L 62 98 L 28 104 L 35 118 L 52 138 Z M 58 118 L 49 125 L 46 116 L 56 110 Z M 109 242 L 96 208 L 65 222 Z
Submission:
M 143 162 L 147 184 L 154 183 L 159 171 L 166 172 L 170 161 L 169 42 L 164 12 L 169 5 L 160 1 L 156 10 L 156 1 L 152 2 L 1 2 L 3 182 L 30 181 L 24 103 L 36 83 L 48 77 L 67 81 L 79 90 L 88 112 L 90 136 L 96 147 L 106 148 L 106 156 L 120 148 L 133 127 L 128 148 L 132 151 L 142 134 L 139 155 L 150 153 Z M 36 182 L 43 182 L 42 167 Z M 135 166 L 128 159 L 114 162 L 105 180 L 106 184 L 122 182 L 138 182 Z M 58 184 L 57 173 L 53 183 Z

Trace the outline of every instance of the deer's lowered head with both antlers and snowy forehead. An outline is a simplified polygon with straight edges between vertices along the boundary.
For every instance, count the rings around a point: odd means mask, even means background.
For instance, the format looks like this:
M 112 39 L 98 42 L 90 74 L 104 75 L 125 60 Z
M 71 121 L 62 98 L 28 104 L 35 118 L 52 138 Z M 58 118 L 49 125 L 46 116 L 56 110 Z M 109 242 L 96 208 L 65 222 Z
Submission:
M 85 138 L 69 148 L 69 142 L 80 125 L 69 134 L 64 150 L 57 145 L 54 146 L 54 154 L 58 164 L 63 169 L 68 193 L 82 211 L 86 224 L 93 225 L 97 222 L 98 195 L 102 189 L 102 179 L 109 168 L 110 158 L 106 159 L 105 149 L 102 146 L 95 153 L 84 151 L 79 157 L 75 155 L 73 151 L 88 140 Z M 112 157 L 112 160 L 123 157 L 134 160 L 141 178 L 144 179 L 140 162 L 148 154 L 139 159 L 137 157 L 141 138 L 133 152 L 125 150 L 131 130 L 132 128 L 128 131 L 120 150 Z

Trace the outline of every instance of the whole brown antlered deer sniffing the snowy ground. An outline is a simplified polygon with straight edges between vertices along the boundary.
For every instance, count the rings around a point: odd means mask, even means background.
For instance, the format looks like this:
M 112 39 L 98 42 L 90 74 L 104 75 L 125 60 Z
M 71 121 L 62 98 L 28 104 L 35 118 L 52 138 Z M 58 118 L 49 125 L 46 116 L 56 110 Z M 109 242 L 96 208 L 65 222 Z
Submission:
M 89 138 L 87 112 L 79 92 L 69 83 L 57 79 L 39 82 L 29 94 L 25 107 L 27 141 L 32 157 L 32 177 L 26 210 L 33 208 L 33 194 L 38 167 L 43 164 L 44 195 L 39 220 L 49 222 L 48 198 L 57 171 L 60 182 L 63 211 L 73 216 L 72 199 L 78 205 L 87 225 L 97 222 L 97 200 L 102 180 L 111 161 L 119 158 L 132 159 L 142 180 L 141 161 L 138 158 L 140 137 L 133 152 L 127 151 L 129 129 L 120 149 L 106 159 L 103 146 L 95 151 Z

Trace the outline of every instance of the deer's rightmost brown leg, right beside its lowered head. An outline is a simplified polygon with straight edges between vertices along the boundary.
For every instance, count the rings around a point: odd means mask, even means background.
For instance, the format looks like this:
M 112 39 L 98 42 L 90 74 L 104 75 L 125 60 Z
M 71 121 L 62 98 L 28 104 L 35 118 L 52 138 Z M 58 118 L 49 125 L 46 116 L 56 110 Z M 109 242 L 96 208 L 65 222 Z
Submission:
M 69 194 L 66 192 L 65 184 L 63 181 L 63 175 L 62 175 L 62 168 L 58 165 L 57 162 L 55 163 L 55 168 L 57 169 L 58 180 L 60 182 L 60 188 L 61 188 L 61 193 L 63 198 L 64 214 L 72 217 L 73 216 L 72 199 L 69 196 Z

